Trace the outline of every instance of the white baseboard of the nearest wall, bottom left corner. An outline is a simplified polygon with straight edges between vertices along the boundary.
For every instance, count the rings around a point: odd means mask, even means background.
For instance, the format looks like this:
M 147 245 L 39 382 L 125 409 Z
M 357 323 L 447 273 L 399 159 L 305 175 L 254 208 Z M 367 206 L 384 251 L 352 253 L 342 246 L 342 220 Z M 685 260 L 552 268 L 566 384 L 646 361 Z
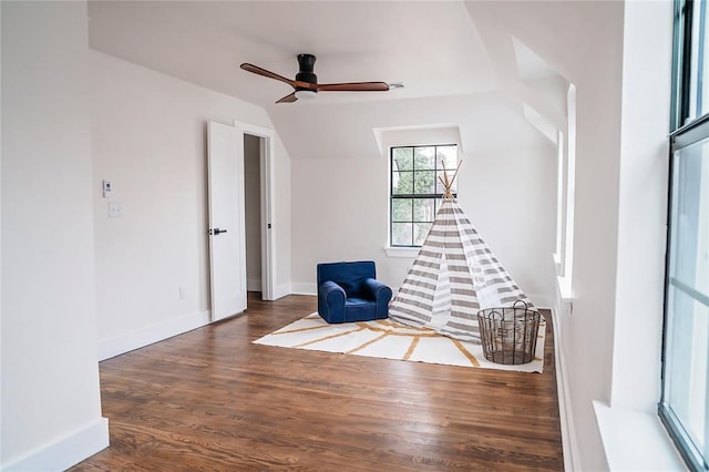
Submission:
M 6 472 L 63 471 L 109 447 L 109 420 L 100 418 L 0 469 Z

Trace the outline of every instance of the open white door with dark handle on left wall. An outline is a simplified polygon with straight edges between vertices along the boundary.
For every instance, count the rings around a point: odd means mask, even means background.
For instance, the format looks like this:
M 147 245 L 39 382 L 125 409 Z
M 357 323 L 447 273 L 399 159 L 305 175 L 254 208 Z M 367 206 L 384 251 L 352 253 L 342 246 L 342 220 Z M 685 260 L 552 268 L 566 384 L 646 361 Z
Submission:
M 212 320 L 246 309 L 246 229 L 244 216 L 244 135 L 209 122 L 209 275 Z

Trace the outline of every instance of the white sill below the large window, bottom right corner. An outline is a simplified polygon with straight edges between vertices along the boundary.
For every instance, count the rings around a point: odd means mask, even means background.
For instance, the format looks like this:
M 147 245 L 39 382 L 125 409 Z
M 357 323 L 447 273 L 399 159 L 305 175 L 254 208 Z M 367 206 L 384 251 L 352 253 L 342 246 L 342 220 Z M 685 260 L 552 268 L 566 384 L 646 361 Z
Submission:
M 656 414 L 610 408 L 594 401 L 610 471 L 686 471 Z

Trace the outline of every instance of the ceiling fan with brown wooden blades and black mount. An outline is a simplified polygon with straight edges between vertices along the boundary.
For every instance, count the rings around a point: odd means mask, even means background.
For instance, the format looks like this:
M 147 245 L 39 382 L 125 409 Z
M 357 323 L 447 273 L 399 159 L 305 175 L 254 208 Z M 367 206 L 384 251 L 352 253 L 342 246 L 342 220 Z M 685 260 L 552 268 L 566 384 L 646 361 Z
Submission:
M 295 89 L 292 93 L 276 103 L 292 103 L 298 99 L 315 99 L 318 92 L 386 92 L 389 90 L 389 84 L 386 82 L 318 83 L 318 76 L 312 72 L 315 61 L 316 57 L 312 54 L 298 54 L 300 70 L 296 74 L 296 80 L 287 79 L 247 62 L 242 64 L 242 69 L 265 78 L 286 82 Z

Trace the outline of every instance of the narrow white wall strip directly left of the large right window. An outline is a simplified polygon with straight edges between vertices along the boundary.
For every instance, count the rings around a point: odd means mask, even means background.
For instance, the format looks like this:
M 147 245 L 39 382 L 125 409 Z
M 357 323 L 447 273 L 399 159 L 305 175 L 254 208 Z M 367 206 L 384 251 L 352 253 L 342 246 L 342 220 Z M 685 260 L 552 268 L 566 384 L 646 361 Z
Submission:
M 671 18 L 671 2 L 625 4 L 612 406 L 648 413 L 660 396 Z

